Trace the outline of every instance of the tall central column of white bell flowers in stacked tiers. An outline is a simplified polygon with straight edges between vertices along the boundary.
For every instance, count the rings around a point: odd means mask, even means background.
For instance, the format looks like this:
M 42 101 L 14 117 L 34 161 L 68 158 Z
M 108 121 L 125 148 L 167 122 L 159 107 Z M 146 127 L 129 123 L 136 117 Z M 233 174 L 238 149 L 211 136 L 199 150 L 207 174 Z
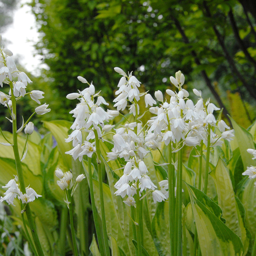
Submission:
M 119 90 L 116 91 L 116 94 L 119 94 L 119 96 L 114 100 L 116 102 L 114 106 L 118 110 L 124 110 L 127 102 L 130 102 L 130 113 L 136 119 L 139 115 L 139 105 L 137 102 L 140 100 L 140 96 L 145 95 L 146 107 L 156 104 L 156 101 L 150 94 L 139 92 L 138 87 L 140 87 L 141 83 L 135 76 L 132 76 L 132 73 L 128 73 L 127 76 L 121 68 L 115 68 L 115 71 L 123 75 L 117 85 Z M 136 207 L 136 204 L 133 196 L 136 194 L 138 200 L 142 193 L 144 193 L 143 191 L 146 194 L 152 192 L 155 203 L 156 201 L 161 202 L 165 200 L 164 194 L 159 190 L 155 190 L 157 187 L 148 176 L 148 169 L 143 161 L 149 151 L 145 143 L 145 132 L 138 118 L 135 122 L 125 124 L 123 127 L 115 129 L 115 131 L 116 134 L 113 136 L 114 147 L 107 155 L 108 161 L 119 157 L 124 158 L 127 162 L 124 167 L 123 176 L 114 186 L 117 189 L 115 195 L 122 196 L 123 198 L 127 195 L 128 197 L 124 203 L 134 207 Z

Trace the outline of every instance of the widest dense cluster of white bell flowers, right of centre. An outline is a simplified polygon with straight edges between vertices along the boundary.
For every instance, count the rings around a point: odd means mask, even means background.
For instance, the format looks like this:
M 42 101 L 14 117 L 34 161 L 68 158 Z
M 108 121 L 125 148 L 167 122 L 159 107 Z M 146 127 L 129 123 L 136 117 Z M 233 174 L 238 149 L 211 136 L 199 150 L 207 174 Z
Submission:
M 149 108 L 149 111 L 156 115 L 148 121 L 149 129 L 145 141 L 149 148 L 157 149 L 161 146 L 161 142 L 167 146 L 170 141 L 176 143 L 177 148 L 180 148 L 180 145 L 195 147 L 200 145 L 202 140 L 207 145 L 208 134 L 211 137 L 211 147 L 221 145 L 223 143 L 221 138 L 232 140 L 234 130 L 230 130 L 223 120 L 216 121 L 213 115 L 213 111 L 220 108 L 210 103 L 210 99 L 204 103 L 201 91 L 196 89 L 193 89 L 193 92 L 199 96 L 199 99 L 194 105 L 193 101 L 188 99 L 189 93 L 182 88 L 185 78 L 180 71 L 176 72 L 176 78 L 171 76 L 170 80 L 179 91 L 166 90 L 166 94 L 171 96 L 169 102 L 164 100 L 161 91 L 155 92 L 155 97 L 160 105 Z M 217 123 L 221 132 L 220 136 L 212 130 L 217 127 Z M 210 130 L 208 130 L 208 125 L 211 127 Z M 173 148 L 173 152 L 177 148 Z

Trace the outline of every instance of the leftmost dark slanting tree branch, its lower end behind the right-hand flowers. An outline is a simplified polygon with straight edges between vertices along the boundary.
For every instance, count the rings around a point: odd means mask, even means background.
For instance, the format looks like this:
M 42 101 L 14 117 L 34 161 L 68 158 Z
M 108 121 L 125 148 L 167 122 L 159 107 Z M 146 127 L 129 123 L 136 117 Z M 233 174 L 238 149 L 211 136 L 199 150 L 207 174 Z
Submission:
M 179 20 L 177 20 L 177 19 L 174 18 L 173 21 L 174 21 L 174 23 L 175 23 L 177 29 L 179 30 L 179 32 L 180 32 L 180 34 L 181 34 L 181 36 L 182 36 L 182 39 L 183 39 L 183 41 L 184 41 L 184 43 L 185 43 L 185 44 L 189 44 L 188 37 L 185 35 L 185 32 L 184 32 L 184 30 L 182 29 Z M 192 56 L 195 58 L 196 65 L 198 65 L 198 66 L 201 65 L 201 62 L 200 62 L 200 60 L 198 59 L 196 52 L 193 50 L 193 51 L 191 52 L 191 54 L 192 54 Z M 228 117 L 228 110 L 227 110 L 227 108 L 225 107 L 225 105 L 223 104 L 222 100 L 220 99 L 219 94 L 215 91 L 214 87 L 212 86 L 211 80 L 210 80 L 210 78 L 207 76 L 205 70 L 202 70 L 202 71 L 201 71 L 201 74 L 202 74 L 202 76 L 203 76 L 203 78 L 204 78 L 204 81 L 205 81 L 207 87 L 210 89 L 210 91 L 212 92 L 213 96 L 215 97 L 215 99 L 216 99 L 217 102 L 219 103 L 220 108 L 223 108 L 223 114 L 224 114 L 224 115 L 228 118 L 228 120 L 229 120 L 229 117 Z M 229 123 L 231 124 L 230 120 L 229 120 Z

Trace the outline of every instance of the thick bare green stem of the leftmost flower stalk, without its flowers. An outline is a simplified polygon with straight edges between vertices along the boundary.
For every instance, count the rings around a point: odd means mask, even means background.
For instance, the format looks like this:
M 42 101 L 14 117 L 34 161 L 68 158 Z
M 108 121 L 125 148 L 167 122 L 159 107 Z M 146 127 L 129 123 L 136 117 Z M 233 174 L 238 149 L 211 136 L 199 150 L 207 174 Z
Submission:
M 11 100 L 12 100 L 12 112 L 15 115 L 15 119 L 12 120 L 12 139 L 13 139 L 13 153 L 14 153 L 14 158 L 15 158 L 15 163 L 16 163 L 16 169 L 17 169 L 17 174 L 18 174 L 18 179 L 19 179 L 19 184 L 20 184 L 20 190 L 23 194 L 26 193 L 26 188 L 25 188 L 25 183 L 24 183 L 24 178 L 23 178 L 23 173 L 22 173 L 22 165 L 20 162 L 20 153 L 19 153 L 19 148 L 18 148 L 18 134 L 17 132 L 17 116 L 16 116 L 16 99 L 13 94 L 13 85 L 12 82 L 10 82 L 10 88 L 11 88 Z M 28 218 L 28 224 L 29 228 L 31 230 L 31 234 L 36 246 L 36 250 L 39 256 L 43 256 L 44 252 L 42 249 L 42 246 L 40 244 L 37 232 L 36 232 L 36 227 L 35 223 L 32 217 L 32 213 L 29 207 L 29 204 L 26 206 L 26 214 Z

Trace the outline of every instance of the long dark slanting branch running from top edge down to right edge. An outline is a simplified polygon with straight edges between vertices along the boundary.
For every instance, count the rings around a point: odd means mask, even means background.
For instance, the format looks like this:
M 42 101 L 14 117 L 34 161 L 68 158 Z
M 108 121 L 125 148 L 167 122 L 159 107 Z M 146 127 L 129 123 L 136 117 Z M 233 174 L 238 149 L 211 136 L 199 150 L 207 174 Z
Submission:
M 206 16 L 209 18 L 212 18 L 211 12 L 207 6 L 207 3 L 204 1 L 204 9 L 206 11 Z M 249 85 L 247 84 L 247 82 L 245 81 L 244 77 L 240 74 L 240 72 L 238 71 L 238 69 L 236 68 L 236 64 L 233 60 L 233 58 L 230 56 L 230 54 L 228 53 L 228 49 L 225 46 L 224 40 L 222 39 L 222 36 L 219 32 L 219 30 L 216 28 L 215 25 L 212 25 L 212 28 L 215 32 L 215 35 L 217 36 L 217 39 L 220 43 L 220 46 L 225 54 L 226 59 L 228 60 L 228 64 L 232 70 L 233 73 L 236 74 L 236 76 L 238 77 L 238 79 L 242 82 L 242 84 L 244 85 L 244 87 L 248 90 L 248 92 L 251 94 L 251 96 L 256 100 L 256 92 L 255 92 L 255 86 Z

